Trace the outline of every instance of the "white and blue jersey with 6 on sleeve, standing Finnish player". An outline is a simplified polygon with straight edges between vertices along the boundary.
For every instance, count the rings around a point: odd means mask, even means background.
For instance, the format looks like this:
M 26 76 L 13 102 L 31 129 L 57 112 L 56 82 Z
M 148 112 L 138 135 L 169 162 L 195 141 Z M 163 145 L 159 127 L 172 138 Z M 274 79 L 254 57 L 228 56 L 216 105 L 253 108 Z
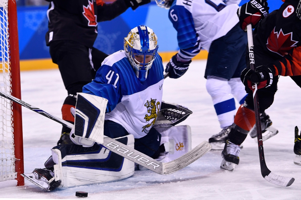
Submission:
M 178 32 L 179 56 L 191 59 L 201 47 L 209 51 L 212 41 L 226 35 L 239 22 L 239 2 L 174 0 L 168 16 Z

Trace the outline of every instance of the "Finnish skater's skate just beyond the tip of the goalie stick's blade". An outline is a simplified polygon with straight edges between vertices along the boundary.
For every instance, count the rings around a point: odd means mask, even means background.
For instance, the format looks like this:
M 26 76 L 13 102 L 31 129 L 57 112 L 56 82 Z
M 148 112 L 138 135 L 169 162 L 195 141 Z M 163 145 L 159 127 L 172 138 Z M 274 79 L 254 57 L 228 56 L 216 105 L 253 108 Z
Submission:
M 209 143 L 212 146 L 212 150 L 223 150 L 225 147 L 225 142 L 228 139 L 228 134 L 230 133 L 232 128 L 231 126 L 227 126 L 222 129 L 221 132 L 219 132 L 216 135 L 211 136 L 209 138 Z

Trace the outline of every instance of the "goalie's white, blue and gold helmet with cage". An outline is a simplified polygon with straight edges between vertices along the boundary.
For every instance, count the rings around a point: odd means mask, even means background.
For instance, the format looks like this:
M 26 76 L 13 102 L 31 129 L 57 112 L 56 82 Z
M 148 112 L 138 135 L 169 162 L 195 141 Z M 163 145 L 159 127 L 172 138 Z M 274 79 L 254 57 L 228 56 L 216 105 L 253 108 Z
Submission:
M 124 38 L 124 50 L 140 81 L 147 78 L 147 72 L 153 64 L 158 50 L 157 36 L 147 26 L 132 29 Z

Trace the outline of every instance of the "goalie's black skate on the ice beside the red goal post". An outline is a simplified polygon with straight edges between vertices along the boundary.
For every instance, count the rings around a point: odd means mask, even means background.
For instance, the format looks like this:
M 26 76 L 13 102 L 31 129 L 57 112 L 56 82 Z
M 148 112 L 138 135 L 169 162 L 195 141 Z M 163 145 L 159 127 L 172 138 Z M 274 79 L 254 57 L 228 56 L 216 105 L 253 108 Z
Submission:
M 54 190 L 61 185 L 61 180 L 55 181 L 53 171 L 47 168 L 35 169 L 33 173 L 21 175 L 36 186 L 39 186 L 47 191 Z

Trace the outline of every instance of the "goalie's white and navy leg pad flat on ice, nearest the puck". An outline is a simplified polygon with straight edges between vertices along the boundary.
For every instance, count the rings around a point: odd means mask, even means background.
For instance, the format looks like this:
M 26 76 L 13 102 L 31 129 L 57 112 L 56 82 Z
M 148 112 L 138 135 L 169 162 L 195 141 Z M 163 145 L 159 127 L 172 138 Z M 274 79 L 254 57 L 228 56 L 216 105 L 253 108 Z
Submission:
M 134 136 L 116 138 L 134 148 Z M 73 187 L 121 180 L 134 174 L 134 162 L 101 145 L 66 145 L 52 148 L 54 175 L 61 187 Z

